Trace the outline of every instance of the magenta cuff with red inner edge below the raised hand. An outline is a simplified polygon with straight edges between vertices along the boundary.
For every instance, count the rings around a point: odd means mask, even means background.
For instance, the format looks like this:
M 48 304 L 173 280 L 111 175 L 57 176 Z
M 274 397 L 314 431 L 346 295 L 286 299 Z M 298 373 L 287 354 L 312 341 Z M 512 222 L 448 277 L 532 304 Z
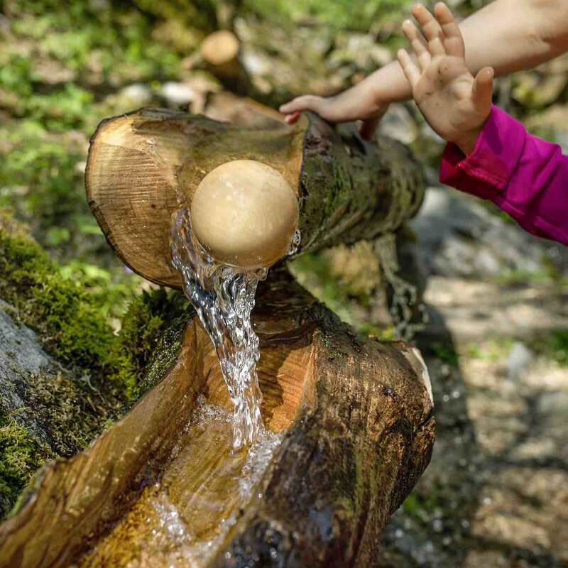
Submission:
M 502 190 L 508 184 L 524 143 L 525 127 L 493 106 L 471 154 L 466 156 L 454 143 L 447 144 L 439 180 L 461 191 L 491 199 L 496 189 Z

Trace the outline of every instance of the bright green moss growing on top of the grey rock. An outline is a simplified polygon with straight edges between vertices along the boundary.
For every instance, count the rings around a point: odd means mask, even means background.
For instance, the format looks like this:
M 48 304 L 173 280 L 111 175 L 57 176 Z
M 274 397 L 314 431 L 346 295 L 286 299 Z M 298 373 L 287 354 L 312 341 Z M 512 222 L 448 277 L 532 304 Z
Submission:
M 88 277 L 64 278 L 58 264 L 7 219 L 0 219 L 0 297 L 58 361 L 88 370 L 99 383 L 110 378 L 120 397 L 136 400 L 158 338 L 187 307 L 182 293 L 143 291 L 116 335 L 102 309 L 106 290 Z

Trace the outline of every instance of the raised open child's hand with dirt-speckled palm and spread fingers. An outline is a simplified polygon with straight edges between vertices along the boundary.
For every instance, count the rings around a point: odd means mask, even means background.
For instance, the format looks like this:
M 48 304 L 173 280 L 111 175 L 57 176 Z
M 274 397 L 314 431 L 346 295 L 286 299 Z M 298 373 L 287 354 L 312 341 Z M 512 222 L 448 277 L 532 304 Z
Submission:
M 413 16 L 428 43 L 407 20 L 403 32 L 417 57 L 398 51 L 398 61 L 413 89 L 413 97 L 428 124 L 439 136 L 469 154 L 491 111 L 493 69 L 484 67 L 474 78 L 464 60 L 464 40 L 449 8 L 436 4 L 436 19 L 417 4 Z

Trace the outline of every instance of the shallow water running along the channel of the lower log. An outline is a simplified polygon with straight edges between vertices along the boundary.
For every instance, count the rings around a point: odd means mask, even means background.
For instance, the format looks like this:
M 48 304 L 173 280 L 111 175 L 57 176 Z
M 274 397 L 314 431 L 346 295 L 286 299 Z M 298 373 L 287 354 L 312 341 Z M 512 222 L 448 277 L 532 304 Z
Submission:
M 254 498 L 282 434 L 263 428 L 249 447 L 226 444 L 232 415 L 200 395 L 160 480 L 144 488 L 80 568 L 204 568 Z M 229 553 L 226 553 L 229 554 Z

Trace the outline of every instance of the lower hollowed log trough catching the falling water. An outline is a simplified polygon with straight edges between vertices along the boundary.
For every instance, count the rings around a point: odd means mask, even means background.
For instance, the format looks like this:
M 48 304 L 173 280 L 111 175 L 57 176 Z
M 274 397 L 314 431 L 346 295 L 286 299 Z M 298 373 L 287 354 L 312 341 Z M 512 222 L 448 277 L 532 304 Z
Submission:
M 40 471 L 0 525 L 0 566 L 369 566 L 430 460 L 420 355 L 357 337 L 285 270 L 259 288 L 253 322 L 263 418 L 283 439 L 249 501 L 237 497 L 246 452 L 229 452 L 230 425 L 192 422 L 198 395 L 231 408 L 194 317 L 163 380 L 89 449 Z

